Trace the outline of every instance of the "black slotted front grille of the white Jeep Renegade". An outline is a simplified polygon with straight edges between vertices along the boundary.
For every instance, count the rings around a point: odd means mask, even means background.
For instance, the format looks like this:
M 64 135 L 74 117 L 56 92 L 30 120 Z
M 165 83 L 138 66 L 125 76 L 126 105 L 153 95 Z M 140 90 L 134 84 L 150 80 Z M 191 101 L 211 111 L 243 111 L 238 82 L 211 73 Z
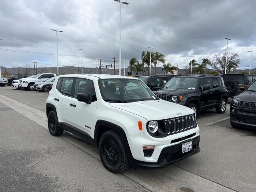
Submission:
M 183 116 L 179 118 L 173 118 L 170 120 L 165 120 L 165 133 L 175 134 L 194 128 L 194 115 Z

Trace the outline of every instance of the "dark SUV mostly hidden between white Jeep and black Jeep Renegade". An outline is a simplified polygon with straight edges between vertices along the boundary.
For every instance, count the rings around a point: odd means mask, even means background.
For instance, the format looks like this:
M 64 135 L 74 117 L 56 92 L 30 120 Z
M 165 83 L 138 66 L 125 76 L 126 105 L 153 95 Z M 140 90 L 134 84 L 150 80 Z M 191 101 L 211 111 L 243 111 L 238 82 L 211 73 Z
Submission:
M 152 91 L 160 90 L 164 85 L 175 75 L 152 75 L 152 76 L 137 76 L 142 80 Z

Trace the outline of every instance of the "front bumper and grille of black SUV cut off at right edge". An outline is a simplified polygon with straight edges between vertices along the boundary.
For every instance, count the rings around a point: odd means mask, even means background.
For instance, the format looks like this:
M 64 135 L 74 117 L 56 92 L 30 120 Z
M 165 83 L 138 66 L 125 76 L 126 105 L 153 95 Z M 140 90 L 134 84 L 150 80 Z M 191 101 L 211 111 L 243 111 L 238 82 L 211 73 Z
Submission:
M 231 103 L 230 122 L 236 126 L 244 128 L 256 128 L 256 109 L 242 108 Z

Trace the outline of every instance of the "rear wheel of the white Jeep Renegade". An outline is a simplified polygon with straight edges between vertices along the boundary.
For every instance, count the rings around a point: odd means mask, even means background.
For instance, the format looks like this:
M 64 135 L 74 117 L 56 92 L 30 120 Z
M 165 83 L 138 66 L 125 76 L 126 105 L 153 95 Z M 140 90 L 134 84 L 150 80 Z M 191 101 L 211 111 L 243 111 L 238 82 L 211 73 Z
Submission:
M 54 111 L 50 111 L 48 114 L 48 129 L 52 136 L 60 136 L 63 133 L 63 129 L 58 125 L 57 114 Z

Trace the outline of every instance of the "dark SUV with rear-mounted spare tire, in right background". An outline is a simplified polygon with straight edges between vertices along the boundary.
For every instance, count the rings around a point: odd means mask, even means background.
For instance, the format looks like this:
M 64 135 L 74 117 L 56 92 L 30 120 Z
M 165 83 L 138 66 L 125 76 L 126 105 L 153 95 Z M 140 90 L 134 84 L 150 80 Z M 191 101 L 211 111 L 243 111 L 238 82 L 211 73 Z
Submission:
M 256 80 L 256 75 L 253 74 L 223 74 L 222 78 L 224 84 L 227 87 L 229 97 L 242 93 L 240 87 L 247 87 L 254 80 Z

